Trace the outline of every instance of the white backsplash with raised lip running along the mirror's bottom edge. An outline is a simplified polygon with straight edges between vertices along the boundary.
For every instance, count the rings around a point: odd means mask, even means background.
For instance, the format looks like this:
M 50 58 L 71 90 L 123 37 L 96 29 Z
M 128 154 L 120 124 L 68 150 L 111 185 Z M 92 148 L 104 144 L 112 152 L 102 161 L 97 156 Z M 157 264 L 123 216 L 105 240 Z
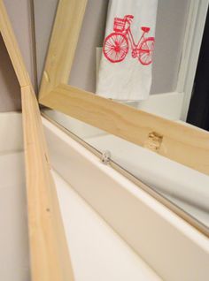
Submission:
M 207 280 L 209 239 L 43 118 L 51 163 L 169 281 Z

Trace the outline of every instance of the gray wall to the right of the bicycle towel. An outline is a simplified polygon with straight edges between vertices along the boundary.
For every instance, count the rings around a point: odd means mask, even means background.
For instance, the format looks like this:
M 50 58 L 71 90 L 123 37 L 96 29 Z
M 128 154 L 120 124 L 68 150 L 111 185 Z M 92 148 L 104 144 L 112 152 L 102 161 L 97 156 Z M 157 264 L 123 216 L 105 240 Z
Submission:
M 173 92 L 190 0 L 159 0 L 151 94 Z

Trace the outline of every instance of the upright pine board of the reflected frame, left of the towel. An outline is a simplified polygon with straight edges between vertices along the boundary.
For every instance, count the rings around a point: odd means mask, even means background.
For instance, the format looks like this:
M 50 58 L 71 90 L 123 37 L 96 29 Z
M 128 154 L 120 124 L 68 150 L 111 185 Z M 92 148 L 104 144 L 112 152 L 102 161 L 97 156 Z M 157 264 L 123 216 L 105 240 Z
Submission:
M 43 71 L 40 97 L 60 82 L 67 83 L 81 31 L 87 0 L 60 0 Z

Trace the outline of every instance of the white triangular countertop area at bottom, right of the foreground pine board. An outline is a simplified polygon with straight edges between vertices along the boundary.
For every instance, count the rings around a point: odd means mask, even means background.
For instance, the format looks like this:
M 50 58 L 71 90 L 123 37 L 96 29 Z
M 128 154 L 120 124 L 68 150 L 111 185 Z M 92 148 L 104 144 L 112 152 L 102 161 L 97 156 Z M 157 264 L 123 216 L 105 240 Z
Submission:
M 161 280 L 71 186 L 53 176 L 75 281 Z

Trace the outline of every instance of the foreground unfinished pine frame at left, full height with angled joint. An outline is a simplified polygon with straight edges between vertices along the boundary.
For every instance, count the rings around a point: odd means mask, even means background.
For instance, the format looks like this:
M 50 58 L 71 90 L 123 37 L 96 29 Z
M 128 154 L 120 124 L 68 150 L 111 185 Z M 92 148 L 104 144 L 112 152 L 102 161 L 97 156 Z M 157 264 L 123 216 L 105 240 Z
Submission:
M 3 0 L 0 0 L 0 33 L 21 88 L 31 279 L 73 281 L 58 196 L 50 174 L 41 114 Z

